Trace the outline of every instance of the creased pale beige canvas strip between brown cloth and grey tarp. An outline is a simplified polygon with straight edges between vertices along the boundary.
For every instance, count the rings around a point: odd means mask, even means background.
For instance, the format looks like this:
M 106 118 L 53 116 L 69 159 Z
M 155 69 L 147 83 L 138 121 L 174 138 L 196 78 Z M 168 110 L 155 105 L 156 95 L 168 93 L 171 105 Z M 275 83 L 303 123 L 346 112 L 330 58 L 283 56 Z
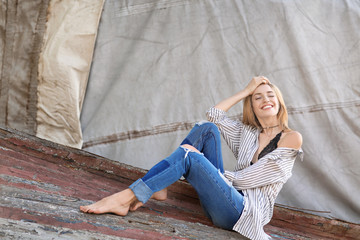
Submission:
M 39 61 L 36 135 L 81 148 L 80 113 L 103 0 L 52 0 Z

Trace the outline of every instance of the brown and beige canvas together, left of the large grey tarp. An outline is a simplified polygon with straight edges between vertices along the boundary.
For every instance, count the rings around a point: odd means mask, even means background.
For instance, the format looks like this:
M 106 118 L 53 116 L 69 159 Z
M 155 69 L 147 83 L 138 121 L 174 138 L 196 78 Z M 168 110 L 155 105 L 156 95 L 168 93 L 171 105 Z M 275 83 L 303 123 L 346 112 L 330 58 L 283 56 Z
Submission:
M 81 148 L 104 0 L 0 3 L 0 125 Z

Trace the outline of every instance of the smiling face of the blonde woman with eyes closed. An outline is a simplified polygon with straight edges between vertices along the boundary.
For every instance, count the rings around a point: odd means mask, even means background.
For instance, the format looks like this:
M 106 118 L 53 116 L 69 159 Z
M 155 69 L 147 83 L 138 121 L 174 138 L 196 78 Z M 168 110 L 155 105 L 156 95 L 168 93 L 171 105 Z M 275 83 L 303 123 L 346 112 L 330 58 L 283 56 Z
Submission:
M 274 90 L 267 84 L 262 84 L 255 89 L 251 102 L 258 119 L 277 116 L 279 112 L 279 100 Z

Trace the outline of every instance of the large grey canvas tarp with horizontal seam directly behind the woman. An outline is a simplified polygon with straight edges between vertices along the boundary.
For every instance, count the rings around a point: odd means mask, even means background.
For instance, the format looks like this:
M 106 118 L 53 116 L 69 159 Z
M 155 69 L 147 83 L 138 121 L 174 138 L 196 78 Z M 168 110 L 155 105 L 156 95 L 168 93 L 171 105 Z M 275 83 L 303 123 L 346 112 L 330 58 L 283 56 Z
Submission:
M 107 0 L 83 148 L 148 169 L 209 107 L 265 75 L 304 139 L 304 161 L 277 202 L 360 223 L 359 26 L 352 0 Z M 239 104 L 229 115 L 241 112 Z

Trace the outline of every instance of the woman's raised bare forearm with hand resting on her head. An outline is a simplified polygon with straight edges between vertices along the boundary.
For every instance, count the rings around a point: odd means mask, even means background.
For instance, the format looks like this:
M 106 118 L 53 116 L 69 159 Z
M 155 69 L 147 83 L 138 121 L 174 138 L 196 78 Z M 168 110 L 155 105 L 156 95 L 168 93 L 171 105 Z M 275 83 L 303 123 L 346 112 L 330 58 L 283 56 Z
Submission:
M 226 98 L 216 104 L 214 107 L 217 109 L 221 109 L 225 112 L 227 112 L 231 107 L 233 107 L 235 104 L 246 98 L 247 96 L 251 95 L 254 90 L 262 83 L 269 83 L 269 79 L 266 77 L 260 76 L 260 77 L 253 77 L 249 84 L 241 91 L 237 92 L 235 95 Z

